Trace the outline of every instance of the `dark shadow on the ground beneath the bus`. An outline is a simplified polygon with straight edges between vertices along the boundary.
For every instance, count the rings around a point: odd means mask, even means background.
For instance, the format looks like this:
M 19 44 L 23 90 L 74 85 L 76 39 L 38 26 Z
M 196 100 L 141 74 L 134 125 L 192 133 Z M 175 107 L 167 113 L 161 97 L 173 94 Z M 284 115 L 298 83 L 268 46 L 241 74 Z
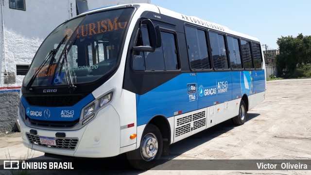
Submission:
M 248 113 L 246 123 L 260 114 L 257 113 Z M 182 155 L 183 153 L 203 144 L 209 140 L 217 138 L 218 136 L 232 130 L 237 127 L 232 122 L 232 119 L 229 119 L 223 123 L 219 123 L 215 126 L 212 126 L 206 130 L 203 130 L 199 133 L 196 133 L 186 139 L 180 140 L 176 143 L 170 145 L 170 155 L 166 157 L 162 157 L 162 160 L 157 164 L 160 168 L 161 166 L 166 166 L 166 164 L 170 164 L 170 160 L 175 157 Z M 52 157 L 52 158 L 51 158 Z M 55 159 L 57 158 L 57 159 Z M 106 158 L 85 158 L 85 157 L 58 157 L 57 155 L 48 155 L 33 158 L 33 160 L 46 160 L 46 161 L 55 161 L 60 160 L 65 161 L 73 161 L 75 165 L 75 169 L 71 171 L 62 171 L 62 170 L 52 170 L 49 171 L 51 174 L 57 175 L 67 175 L 69 172 L 78 174 L 78 175 L 87 175 L 87 174 L 140 174 L 145 171 L 137 170 L 129 164 L 126 159 L 126 154 L 121 154 L 115 157 L 106 157 Z M 151 169 L 152 170 L 152 169 Z M 41 171 L 32 171 L 32 174 L 40 174 Z M 42 173 L 42 172 L 41 172 Z

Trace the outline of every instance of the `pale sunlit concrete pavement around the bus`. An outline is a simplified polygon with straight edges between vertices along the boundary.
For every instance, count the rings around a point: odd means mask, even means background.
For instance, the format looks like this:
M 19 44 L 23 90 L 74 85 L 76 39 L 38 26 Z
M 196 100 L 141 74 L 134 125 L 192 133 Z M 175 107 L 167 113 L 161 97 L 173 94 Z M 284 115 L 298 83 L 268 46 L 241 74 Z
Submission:
M 28 157 L 19 133 L 0 136 L 0 159 Z M 311 79 L 267 82 L 266 99 L 248 112 L 247 122 L 218 124 L 170 146 L 171 159 L 311 159 Z M 28 154 L 27 154 L 28 151 Z M 32 153 L 42 157 L 42 153 Z M 172 166 L 172 160 L 160 165 Z M 183 165 L 178 165 L 183 167 Z M 311 166 L 311 165 L 310 165 Z M 116 173 L 116 172 L 112 172 Z M 161 171 L 135 174 L 282 174 L 304 175 L 311 171 Z M 87 174 L 86 172 L 81 174 Z

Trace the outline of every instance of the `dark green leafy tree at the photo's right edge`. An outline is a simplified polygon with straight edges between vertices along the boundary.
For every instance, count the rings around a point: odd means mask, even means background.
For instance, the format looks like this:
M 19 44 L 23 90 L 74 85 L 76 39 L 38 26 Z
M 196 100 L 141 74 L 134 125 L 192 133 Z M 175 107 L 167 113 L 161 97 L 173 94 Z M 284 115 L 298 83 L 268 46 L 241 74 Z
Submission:
M 311 36 L 281 36 L 276 41 L 278 74 L 283 78 L 311 77 Z

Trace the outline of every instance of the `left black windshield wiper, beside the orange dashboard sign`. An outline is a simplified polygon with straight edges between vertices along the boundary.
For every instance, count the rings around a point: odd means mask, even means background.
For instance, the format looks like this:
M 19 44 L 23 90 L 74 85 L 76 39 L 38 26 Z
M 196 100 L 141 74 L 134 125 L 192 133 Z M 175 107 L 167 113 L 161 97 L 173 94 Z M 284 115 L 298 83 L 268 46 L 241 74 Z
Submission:
M 34 81 L 35 81 L 35 78 L 37 77 L 38 73 L 40 72 L 40 70 L 42 70 L 42 68 L 44 67 L 44 65 L 48 62 L 49 58 L 52 58 L 50 60 L 50 64 L 49 64 L 49 67 L 46 71 L 46 74 L 49 72 L 53 62 L 54 62 L 54 57 L 55 57 L 55 54 L 57 53 L 57 51 L 59 50 L 60 46 L 66 41 L 68 35 L 65 35 L 65 37 L 60 41 L 60 43 L 57 45 L 56 49 L 52 49 L 50 51 L 50 53 L 47 55 L 47 57 L 44 59 L 44 61 L 42 62 L 42 64 L 39 66 L 39 68 L 35 71 L 34 75 L 31 77 L 29 83 L 27 84 L 27 87 L 26 89 L 27 90 L 32 90 L 31 86 L 33 85 Z

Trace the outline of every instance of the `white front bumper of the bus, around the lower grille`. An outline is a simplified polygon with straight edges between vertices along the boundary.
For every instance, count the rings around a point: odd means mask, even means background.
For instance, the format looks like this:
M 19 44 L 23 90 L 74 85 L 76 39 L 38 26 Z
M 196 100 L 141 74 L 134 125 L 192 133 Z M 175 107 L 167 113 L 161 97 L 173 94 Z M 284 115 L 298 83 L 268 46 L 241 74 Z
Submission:
M 20 116 L 19 120 L 22 121 Z M 120 154 L 120 117 L 111 105 L 100 110 L 92 121 L 79 130 L 36 129 L 26 126 L 24 122 L 20 122 L 20 129 L 24 146 L 44 153 L 73 157 L 113 157 Z M 37 133 L 31 134 L 32 129 Z M 64 132 L 66 137 L 56 138 L 57 132 Z M 40 145 L 40 136 L 59 139 L 61 143 L 58 140 L 56 146 Z

